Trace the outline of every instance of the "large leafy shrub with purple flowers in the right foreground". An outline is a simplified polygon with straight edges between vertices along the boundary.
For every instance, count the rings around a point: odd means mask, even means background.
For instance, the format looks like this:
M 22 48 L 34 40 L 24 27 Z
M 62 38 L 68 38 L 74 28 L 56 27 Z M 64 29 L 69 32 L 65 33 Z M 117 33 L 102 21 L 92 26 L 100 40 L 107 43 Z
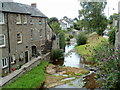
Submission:
M 116 51 L 114 46 L 104 43 L 95 49 L 95 53 L 97 81 L 103 88 L 117 88 L 120 83 L 120 48 Z

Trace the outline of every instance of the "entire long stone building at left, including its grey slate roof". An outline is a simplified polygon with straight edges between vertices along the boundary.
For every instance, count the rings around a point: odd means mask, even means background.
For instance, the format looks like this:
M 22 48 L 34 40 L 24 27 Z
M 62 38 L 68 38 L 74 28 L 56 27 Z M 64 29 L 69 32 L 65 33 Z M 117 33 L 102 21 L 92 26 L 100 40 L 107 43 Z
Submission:
M 0 71 L 4 76 L 17 66 L 46 54 L 44 50 L 52 44 L 54 33 L 36 3 L 31 6 L 15 2 L 0 4 Z

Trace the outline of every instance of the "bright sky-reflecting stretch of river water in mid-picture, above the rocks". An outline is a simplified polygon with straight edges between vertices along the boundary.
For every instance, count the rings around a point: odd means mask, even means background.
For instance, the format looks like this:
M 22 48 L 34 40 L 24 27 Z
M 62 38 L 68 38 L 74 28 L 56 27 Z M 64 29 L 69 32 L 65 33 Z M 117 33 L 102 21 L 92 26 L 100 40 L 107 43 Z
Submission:
M 76 39 L 71 39 L 71 44 L 65 47 L 65 57 L 63 66 L 84 68 L 84 65 L 80 63 L 80 56 L 74 52 L 76 45 Z

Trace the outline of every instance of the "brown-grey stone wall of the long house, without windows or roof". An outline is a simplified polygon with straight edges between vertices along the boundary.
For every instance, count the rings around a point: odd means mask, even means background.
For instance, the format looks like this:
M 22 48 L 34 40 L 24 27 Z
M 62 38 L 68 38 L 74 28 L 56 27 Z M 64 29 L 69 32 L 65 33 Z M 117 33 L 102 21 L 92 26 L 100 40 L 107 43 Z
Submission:
M 8 15 L 8 20 L 7 20 Z M 9 46 L 8 46 L 8 29 L 10 35 L 10 56 L 15 55 L 15 63 L 10 65 L 10 69 L 12 71 L 17 65 L 25 64 L 25 52 L 29 51 L 29 60 L 32 57 L 32 46 L 36 46 L 37 51 L 40 53 L 42 50 L 42 45 L 45 44 L 46 40 L 46 18 L 42 18 L 42 24 L 39 24 L 40 17 L 32 17 L 33 24 L 30 24 L 30 15 L 27 16 L 27 24 L 23 24 L 24 14 L 21 14 L 22 24 L 16 24 L 16 14 L 13 13 L 5 13 L 5 24 L 0 24 L 0 33 L 5 35 L 5 43 L 6 46 L 0 48 L 0 60 L 2 58 L 9 59 Z M 8 22 L 8 25 L 7 25 Z M 9 28 L 8 28 L 9 27 Z M 31 33 L 31 30 L 33 32 Z M 40 31 L 41 35 L 40 36 Z M 17 33 L 22 33 L 22 43 L 17 43 Z M 32 36 L 31 36 L 32 34 Z M 32 39 L 33 37 L 33 39 Z M 23 59 L 19 61 L 20 55 L 23 55 Z M 9 63 L 9 60 L 8 60 Z M 2 67 L 2 65 L 0 64 Z M 9 72 L 9 68 L 2 68 L 3 76 Z

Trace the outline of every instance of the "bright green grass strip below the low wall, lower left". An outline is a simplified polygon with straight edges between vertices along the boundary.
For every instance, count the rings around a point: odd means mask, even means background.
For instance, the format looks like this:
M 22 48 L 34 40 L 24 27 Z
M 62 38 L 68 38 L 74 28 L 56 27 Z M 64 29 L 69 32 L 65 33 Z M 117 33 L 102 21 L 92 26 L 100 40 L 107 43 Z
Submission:
M 42 61 L 39 66 L 25 73 L 5 88 L 35 88 L 40 86 L 40 83 L 45 80 L 44 70 L 46 65 L 48 65 L 48 62 Z

